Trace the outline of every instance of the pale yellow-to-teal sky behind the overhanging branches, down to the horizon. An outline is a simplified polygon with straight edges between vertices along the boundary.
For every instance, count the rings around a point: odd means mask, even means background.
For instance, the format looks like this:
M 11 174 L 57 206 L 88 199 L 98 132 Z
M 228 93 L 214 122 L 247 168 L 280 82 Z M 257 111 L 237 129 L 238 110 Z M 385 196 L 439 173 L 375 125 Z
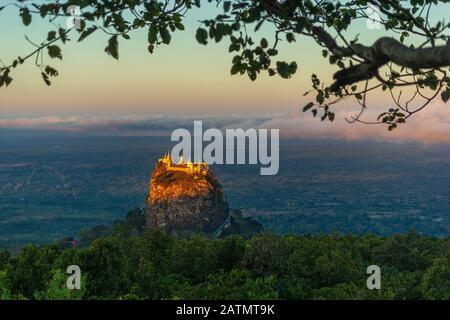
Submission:
M 0 0 L 0 6 L 8 2 Z M 264 75 L 252 82 L 246 76 L 231 76 L 233 55 L 228 53 L 228 43 L 202 46 L 195 40 L 199 20 L 213 17 L 215 10 L 210 5 L 193 10 L 186 18 L 186 30 L 175 33 L 169 46 L 158 47 L 152 55 L 147 51 L 144 31 L 120 42 L 119 61 L 104 53 L 108 37 L 100 32 L 81 43 L 72 41 L 62 46 L 62 62 L 47 60 L 60 72 L 51 87 L 42 81 L 39 68 L 27 62 L 14 70 L 11 86 L 0 89 L 0 128 L 82 130 L 113 124 L 117 129 L 119 123 L 222 117 L 255 126 L 280 127 L 282 135 L 294 137 L 450 140 L 449 114 L 443 112 L 442 102 L 436 102 L 412 121 L 413 126 L 427 123 L 421 134 L 407 128 L 387 134 L 385 127 L 349 125 L 345 117 L 358 111 L 350 100 L 337 106 L 335 123 L 321 123 L 309 113 L 300 112 L 310 101 L 303 94 L 310 89 L 311 74 L 330 82 L 335 71 L 321 56 L 322 49 L 305 38 L 280 47 L 281 59 L 295 60 L 299 65 L 293 78 Z M 33 48 L 24 35 L 39 43 L 54 29 L 38 20 L 25 28 L 16 9 L 0 12 L 1 61 L 8 63 Z M 269 31 L 264 29 L 262 35 L 270 40 L 273 36 Z M 350 34 L 359 34 L 366 44 L 385 35 L 382 30 L 368 29 L 364 21 L 358 22 Z M 390 97 L 381 92 L 375 92 L 370 101 L 374 116 L 391 104 Z

